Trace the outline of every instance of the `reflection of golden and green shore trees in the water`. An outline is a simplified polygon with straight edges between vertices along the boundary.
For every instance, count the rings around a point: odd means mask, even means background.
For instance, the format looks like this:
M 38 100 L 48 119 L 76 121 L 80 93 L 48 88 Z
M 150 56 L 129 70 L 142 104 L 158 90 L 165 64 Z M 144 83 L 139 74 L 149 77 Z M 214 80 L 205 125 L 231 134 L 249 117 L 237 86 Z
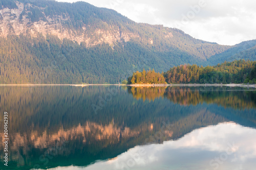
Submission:
M 256 91 L 236 91 L 229 87 L 132 87 L 134 98 L 154 101 L 167 98 L 180 105 L 217 104 L 225 108 L 250 109 L 256 107 Z

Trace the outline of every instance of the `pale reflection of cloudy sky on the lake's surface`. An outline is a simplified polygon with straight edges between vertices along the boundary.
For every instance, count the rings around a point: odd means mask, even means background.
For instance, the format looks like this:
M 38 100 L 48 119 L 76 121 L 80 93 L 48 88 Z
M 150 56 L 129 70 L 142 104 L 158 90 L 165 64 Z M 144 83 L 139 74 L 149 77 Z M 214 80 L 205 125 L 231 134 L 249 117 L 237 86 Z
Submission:
M 234 123 L 194 130 L 176 141 L 138 146 L 87 167 L 55 169 L 255 169 L 256 129 Z

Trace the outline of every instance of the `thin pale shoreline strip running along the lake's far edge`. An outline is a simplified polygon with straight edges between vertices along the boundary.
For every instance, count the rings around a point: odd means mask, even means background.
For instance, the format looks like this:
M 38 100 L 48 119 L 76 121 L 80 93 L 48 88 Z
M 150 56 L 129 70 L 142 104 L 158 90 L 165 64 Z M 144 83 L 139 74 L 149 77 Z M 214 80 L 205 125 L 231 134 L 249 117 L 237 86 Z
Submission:
M 227 86 L 227 87 L 251 87 L 256 88 L 256 84 L 0 84 L 0 86 L 131 86 L 131 87 L 167 87 L 167 86 Z

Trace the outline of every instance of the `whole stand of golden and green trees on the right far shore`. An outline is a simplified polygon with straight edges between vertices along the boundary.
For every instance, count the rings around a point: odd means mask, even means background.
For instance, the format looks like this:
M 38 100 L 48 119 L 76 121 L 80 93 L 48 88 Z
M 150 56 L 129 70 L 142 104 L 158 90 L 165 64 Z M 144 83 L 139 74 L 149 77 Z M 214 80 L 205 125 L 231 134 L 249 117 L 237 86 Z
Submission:
M 129 77 L 128 84 L 186 84 L 186 83 L 250 83 L 256 84 L 256 62 L 235 60 L 224 62 L 216 66 L 198 66 L 196 64 L 184 64 L 170 68 L 168 71 L 156 74 L 154 71 L 148 71 L 154 76 L 145 76 L 146 71 L 134 72 Z M 163 77 L 161 77 L 163 76 Z

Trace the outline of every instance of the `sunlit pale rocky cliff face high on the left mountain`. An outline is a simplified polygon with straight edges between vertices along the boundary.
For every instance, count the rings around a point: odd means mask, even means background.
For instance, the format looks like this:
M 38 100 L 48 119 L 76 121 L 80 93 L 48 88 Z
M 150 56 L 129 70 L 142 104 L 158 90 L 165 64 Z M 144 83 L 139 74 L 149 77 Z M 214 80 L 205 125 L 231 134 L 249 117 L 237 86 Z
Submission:
M 116 42 L 127 42 L 131 38 L 139 37 L 132 32 L 123 32 L 118 27 L 112 29 L 90 29 L 90 25 L 83 25 L 81 29 L 73 26 L 66 28 L 65 23 L 70 22 L 69 14 L 47 16 L 45 8 L 36 7 L 32 4 L 15 2 L 17 9 L 3 8 L 0 10 L 0 36 L 29 35 L 36 37 L 41 34 L 57 36 L 60 40 L 64 38 L 84 42 L 88 46 L 101 43 L 115 44 Z M 31 18 L 34 16 L 36 18 Z M 106 27 L 111 26 L 105 23 Z M 153 41 L 152 41 L 153 42 Z

